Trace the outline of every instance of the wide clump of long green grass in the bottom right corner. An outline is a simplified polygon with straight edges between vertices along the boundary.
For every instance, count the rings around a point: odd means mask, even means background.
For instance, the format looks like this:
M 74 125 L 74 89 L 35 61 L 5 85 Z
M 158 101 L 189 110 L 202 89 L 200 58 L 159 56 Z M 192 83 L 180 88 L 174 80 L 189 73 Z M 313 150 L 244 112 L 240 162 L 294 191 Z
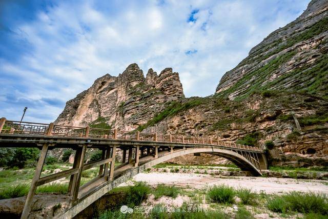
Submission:
M 321 193 L 290 192 L 285 195 L 275 195 L 269 198 L 269 210 L 280 213 L 300 212 L 327 215 L 327 196 Z

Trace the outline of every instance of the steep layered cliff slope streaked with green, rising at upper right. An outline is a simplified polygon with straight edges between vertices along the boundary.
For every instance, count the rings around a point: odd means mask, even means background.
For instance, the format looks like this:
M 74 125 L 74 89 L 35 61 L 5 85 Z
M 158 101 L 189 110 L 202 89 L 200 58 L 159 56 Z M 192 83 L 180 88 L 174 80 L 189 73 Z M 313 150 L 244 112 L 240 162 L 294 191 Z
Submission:
M 216 93 L 235 99 L 254 90 L 284 89 L 328 96 L 327 52 L 328 1 L 313 0 L 295 21 L 272 32 L 224 74 Z

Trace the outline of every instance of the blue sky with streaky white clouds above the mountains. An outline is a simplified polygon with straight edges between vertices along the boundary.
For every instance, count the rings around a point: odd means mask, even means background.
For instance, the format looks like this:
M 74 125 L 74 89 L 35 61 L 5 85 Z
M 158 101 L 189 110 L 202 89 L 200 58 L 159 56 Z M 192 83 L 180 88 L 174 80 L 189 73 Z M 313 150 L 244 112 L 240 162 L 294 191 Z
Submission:
M 215 92 L 309 0 L 0 2 L 0 117 L 49 123 L 66 101 L 131 63 L 172 67 L 187 97 Z

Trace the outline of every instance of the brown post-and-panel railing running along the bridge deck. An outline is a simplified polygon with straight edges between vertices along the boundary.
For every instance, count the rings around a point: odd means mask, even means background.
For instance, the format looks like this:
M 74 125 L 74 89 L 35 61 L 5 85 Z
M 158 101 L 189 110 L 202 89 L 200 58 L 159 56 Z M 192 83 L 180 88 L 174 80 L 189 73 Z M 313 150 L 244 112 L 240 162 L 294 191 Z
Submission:
M 206 144 L 216 145 L 236 149 L 244 149 L 251 151 L 262 152 L 262 148 L 251 147 L 247 145 L 240 145 L 231 142 L 224 142 L 215 140 L 213 138 L 192 137 L 182 135 L 171 134 L 157 134 L 157 133 L 142 133 L 139 131 L 120 131 L 117 129 L 99 129 L 87 127 L 74 127 L 42 124 L 42 123 L 29 123 L 8 121 L 6 118 L 0 119 L 0 133 L 6 134 L 33 134 L 33 135 L 53 135 L 53 136 L 68 136 L 68 137 L 88 137 L 88 138 L 106 138 L 117 140 L 138 140 L 138 141 L 150 141 L 150 142 L 172 142 L 182 144 Z

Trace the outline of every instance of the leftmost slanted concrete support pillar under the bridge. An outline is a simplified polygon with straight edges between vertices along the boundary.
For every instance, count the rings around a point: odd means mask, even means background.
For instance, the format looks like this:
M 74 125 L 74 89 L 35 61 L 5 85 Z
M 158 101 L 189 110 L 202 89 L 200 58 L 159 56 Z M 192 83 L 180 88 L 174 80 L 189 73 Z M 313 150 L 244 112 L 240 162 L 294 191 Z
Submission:
M 36 186 L 37 186 L 37 181 L 40 178 L 42 168 L 43 168 L 43 165 L 44 165 L 45 160 L 46 160 L 47 151 L 48 151 L 48 144 L 44 144 L 42 146 L 42 151 L 41 151 L 39 160 L 38 160 L 36 168 L 35 168 L 35 172 L 34 172 L 34 176 L 33 176 L 33 179 L 32 179 L 32 183 L 31 183 L 29 193 L 27 194 L 27 197 L 26 197 L 23 213 L 22 213 L 22 216 L 20 216 L 20 218 L 25 219 L 25 218 L 28 218 L 28 216 L 29 216 L 33 196 L 34 196 Z

